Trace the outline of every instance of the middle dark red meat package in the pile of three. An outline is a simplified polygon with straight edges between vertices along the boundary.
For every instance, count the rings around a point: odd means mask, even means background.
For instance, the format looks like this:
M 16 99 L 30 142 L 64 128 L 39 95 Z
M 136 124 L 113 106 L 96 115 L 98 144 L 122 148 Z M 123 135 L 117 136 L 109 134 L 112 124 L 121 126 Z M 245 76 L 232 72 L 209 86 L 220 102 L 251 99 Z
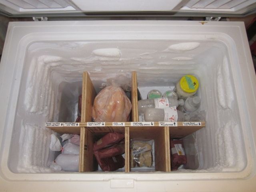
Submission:
M 109 158 L 122 154 L 124 154 L 124 143 L 116 144 L 114 146 L 98 150 L 98 156 L 100 158 Z

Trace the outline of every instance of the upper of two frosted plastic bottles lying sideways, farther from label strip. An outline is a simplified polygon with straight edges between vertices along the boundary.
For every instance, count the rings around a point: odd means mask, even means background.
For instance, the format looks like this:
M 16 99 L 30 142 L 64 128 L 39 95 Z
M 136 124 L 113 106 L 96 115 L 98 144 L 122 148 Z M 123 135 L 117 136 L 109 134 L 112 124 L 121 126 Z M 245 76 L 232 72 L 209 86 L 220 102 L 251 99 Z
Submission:
M 184 100 L 174 99 L 171 97 L 144 99 L 138 101 L 138 111 L 140 114 L 144 114 L 146 108 L 168 108 L 172 106 L 183 106 Z

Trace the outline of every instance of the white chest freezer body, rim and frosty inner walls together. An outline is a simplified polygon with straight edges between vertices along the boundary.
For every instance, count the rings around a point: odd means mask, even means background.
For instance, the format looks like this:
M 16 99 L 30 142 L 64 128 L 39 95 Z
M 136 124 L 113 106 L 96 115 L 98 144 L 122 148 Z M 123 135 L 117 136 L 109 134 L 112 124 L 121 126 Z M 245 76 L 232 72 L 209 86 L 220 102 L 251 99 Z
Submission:
M 56 154 L 45 122 L 75 120 L 84 71 L 96 92 L 108 78 L 133 71 L 138 87 L 174 86 L 184 74 L 197 76 L 206 126 L 184 138 L 191 157 L 186 168 L 52 170 Z M 256 76 L 242 22 L 10 22 L 0 82 L 1 191 L 256 190 Z M 147 131 L 157 136 L 164 129 Z M 136 134 L 142 133 L 130 130 L 130 138 Z

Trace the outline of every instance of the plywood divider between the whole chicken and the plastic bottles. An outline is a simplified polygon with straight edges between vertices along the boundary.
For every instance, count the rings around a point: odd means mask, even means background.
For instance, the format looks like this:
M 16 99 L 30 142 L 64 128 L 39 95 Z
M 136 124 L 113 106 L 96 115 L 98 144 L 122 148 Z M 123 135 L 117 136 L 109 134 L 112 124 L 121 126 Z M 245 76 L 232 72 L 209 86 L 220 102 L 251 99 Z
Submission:
M 138 113 L 138 86 L 137 86 L 137 73 L 136 71 L 132 72 L 132 121 L 139 121 Z

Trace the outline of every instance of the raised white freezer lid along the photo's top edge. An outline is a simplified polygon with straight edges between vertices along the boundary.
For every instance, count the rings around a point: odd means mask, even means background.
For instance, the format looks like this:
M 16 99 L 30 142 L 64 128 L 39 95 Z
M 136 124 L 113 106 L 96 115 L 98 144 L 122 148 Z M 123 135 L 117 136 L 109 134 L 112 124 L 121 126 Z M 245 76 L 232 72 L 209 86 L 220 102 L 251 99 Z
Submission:
M 245 16 L 256 12 L 256 0 L 0 0 L 0 11 L 8 16 L 92 13 Z

